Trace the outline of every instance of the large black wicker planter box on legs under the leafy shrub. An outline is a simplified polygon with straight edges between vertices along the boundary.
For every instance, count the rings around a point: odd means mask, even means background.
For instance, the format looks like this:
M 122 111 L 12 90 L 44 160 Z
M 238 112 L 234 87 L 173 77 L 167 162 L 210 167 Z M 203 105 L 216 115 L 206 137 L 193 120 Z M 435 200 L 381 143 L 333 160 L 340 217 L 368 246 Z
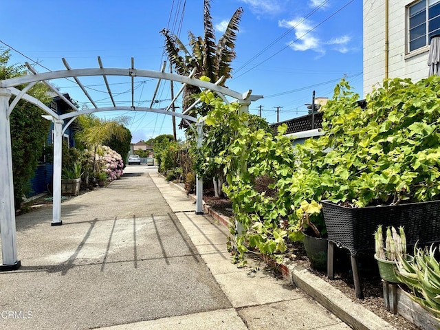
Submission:
M 408 245 L 440 241 L 440 201 L 408 203 L 396 206 L 346 208 L 322 201 L 325 225 L 329 235 L 327 275 L 333 278 L 333 244 L 346 248 L 351 254 L 351 267 L 356 295 L 362 298 L 356 254 L 361 250 L 373 253 L 373 234 L 377 225 L 404 225 Z

